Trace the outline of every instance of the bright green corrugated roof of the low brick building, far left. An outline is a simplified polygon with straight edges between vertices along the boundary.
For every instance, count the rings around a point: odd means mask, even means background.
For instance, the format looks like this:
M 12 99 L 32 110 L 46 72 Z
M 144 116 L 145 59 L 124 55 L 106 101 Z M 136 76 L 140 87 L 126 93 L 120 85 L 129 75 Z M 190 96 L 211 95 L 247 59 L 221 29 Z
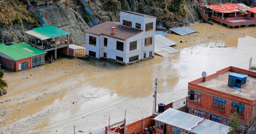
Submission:
M 15 42 L 12 42 L 11 44 L 12 45 L 9 45 L 9 46 L 5 44 L 0 44 L 0 53 L 10 58 L 13 58 L 14 60 L 20 60 L 23 58 L 28 58 L 35 55 L 46 53 L 40 49 L 30 46 L 27 43 L 17 44 Z

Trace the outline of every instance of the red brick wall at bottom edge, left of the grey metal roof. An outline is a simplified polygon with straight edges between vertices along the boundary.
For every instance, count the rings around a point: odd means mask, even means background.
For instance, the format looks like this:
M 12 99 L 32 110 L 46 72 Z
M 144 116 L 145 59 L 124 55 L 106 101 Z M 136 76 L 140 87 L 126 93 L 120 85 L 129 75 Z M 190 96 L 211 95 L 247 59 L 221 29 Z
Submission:
M 147 117 L 147 118 L 144 118 L 145 120 L 145 124 L 144 124 L 144 128 L 147 128 L 147 127 L 150 127 L 150 126 L 154 126 L 152 124 L 152 115 Z M 126 134 L 131 134 L 131 133 L 137 133 L 137 132 L 140 132 L 142 131 L 142 119 L 137 121 L 137 122 L 133 122 L 129 125 L 126 125 L 126 128 L 127 128 L 127 131 L 126 131 Z

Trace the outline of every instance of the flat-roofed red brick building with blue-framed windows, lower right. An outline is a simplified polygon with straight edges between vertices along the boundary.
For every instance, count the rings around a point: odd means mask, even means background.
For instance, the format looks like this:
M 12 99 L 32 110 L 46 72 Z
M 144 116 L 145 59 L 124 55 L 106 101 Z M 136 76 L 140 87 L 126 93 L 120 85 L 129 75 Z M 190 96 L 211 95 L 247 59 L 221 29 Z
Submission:
M 255 77 L 256 72 L 230 66 L 189 82 L 189 113 L 228 125 L 229 117 L 237 112 L 241 123 L 252 125 L 256 118 Z

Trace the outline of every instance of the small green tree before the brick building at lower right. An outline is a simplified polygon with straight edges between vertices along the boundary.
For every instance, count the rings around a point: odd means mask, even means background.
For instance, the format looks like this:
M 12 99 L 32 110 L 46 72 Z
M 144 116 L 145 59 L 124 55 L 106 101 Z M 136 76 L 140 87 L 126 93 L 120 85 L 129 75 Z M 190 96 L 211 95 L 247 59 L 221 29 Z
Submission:
M 229 125 L 230 125 L 230 134 L 237 134 L 237 130 L 240 129 L 240 122 L 238 120 L 238 113 L 234 112 L 233 115 L 231 115 L 230 117 L 230 121 L 229 121 Z

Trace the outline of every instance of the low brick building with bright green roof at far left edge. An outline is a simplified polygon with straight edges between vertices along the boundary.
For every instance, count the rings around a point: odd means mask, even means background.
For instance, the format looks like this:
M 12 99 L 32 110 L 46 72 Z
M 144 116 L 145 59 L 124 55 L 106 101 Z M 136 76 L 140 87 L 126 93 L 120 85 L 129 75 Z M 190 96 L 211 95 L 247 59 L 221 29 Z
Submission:
M 44 64 L 45 53 L 24 42 L 12 42 L 9 46 L 0 44 L 0 63 L 7 69 L 19 71 Z

